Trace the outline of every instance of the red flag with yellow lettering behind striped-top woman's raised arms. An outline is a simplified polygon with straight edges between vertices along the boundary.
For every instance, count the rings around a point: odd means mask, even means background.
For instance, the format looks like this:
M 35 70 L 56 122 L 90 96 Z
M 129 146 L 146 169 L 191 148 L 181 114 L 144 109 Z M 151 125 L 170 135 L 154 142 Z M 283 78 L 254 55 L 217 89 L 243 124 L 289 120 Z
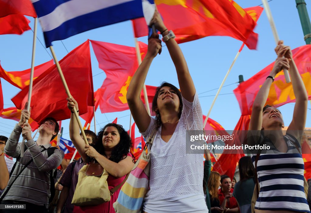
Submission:
M 307 89 L 309 100 L 311 99 L 311 45 L 304 45 L 292 50 L 293 58 Z M 241 82 L 234 89 L 234 94 L 238 99 L 242 115 L 251 115 L 252 106 L 255 97 L 262 86 L 263 82 L 269 75 L 274 66 L 274 62 L 266 68 L 255 74 L 247 81 Z M 275 76 L 271 85 L 266 104 L 275 107 L 282 106 L 286 103 L 295 102 L 295 95 L 292 83 L 286 83 L 284 72 L 281 71 Z

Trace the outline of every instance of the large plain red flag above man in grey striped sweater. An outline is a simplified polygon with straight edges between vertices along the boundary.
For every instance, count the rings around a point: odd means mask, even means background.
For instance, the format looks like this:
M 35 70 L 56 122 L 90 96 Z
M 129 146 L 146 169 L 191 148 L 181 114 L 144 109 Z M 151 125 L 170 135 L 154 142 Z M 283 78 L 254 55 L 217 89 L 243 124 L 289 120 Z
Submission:
M 68 53 L 59 61 L 59 64 L 82 115 L 87 112 L 87 106 L 92 106 L 94 103 L 89 41 Z M 25 106 L 28 90 L 29 87 L 25 87 L 12 98 L 12 102 L 18 109 Z M 31 117 L 38 123 L 45 117 L 53 117 L 56 120 L 70 118 L 71 112 L 67 108 L 66 97 L 56 65 L 53 65 L 33 82 Z

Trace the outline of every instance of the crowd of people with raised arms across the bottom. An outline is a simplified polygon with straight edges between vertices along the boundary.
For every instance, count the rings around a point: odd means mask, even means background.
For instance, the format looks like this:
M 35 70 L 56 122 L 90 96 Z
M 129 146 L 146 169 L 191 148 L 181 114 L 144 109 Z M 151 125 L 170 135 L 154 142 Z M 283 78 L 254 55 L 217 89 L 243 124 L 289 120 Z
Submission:
M 157 11 L 151 25 L 163 36 L 176 68 L 180 90 L 167 82 L 162 83 L 152 102 L 154 116 L 148 114 L 141 101 L 140 93 L 149 67 L 162 48 L 159 35 L 154 33 L 148 40 L 146 57 L 132 77 L 127 92 L 128 106 L 140 133 L 145 138 L 154 137 L 152 147 L 146 145 L 151 157 L 150 176 L 141 212 L 310 213 L 311 190 L 308 191 L 305 184 L 299 143 L 306 122 L 308 96 L 290 48 L 281 41 L 278 43 L 275 65 L 252 108 L 249 125 L 253 130 L 252 138 L 257 144 L 269 143 L 272 149 L 242 157 L 239 175 L 229 177 L 211 171 L 208 150 L 204 153 L 204 166 L 202 155 L 186 153 L 186 134 L 196 134 L 203 129 L 198 94 L 174 33 L 165 27 Z M 293 120 L 285 135 L 281 132 L 284 127 L 281 112 L 273 106 L 265 106 L 274 77 L 283 69 L 290 72 L 296 97 Z M 78 103 L 74 98 L 67 98 L 67 101 L 68 110 L 72 112 L 70 138 L 81 156 L 69 165 L 63 160 L 64 153 L 50 145 L 59 131 L 53 118 L 41 122 L 39 137 L 34 141 L 31 127 L 26 122 L 30 119 L 30 111 L 23 110 L 10 137 L 0 136 L 1 204 L 26 205 L 26 209 L 2 208 L 3 213 L 115 212 L 113 204 L 121 186 L 126 187 L 127 178 L 131 178 L 132 173 L 129 173 L 137 160 L 130 154 L 131 138 L 121 125 L 109 123 L 97 135 L 85 130 L 86 144 L 73 114 L 74 108 L 79 111 Z M 19 143 L 20 135 L 26 138 L 25 148 Z M 20 157 L 21 151 L 24 151 L 23 157 Z M 12 158 L 16 158 L 15 163 Z M 55 173 L 59 165 L 62 170 Z M 86 166 L 88 169 L 84 172 Z M 84 177 L 96 180 L 105 174 L 110 198 L 106 202 L 91 200 L 83 205 L 83 201 L 77 199 L 77 196 L 81 197 L 77 191 L 86 181 Z M 100 181 L 91 184 L 104 187 Z M 89 190 L 87 185 L 83 190 Z

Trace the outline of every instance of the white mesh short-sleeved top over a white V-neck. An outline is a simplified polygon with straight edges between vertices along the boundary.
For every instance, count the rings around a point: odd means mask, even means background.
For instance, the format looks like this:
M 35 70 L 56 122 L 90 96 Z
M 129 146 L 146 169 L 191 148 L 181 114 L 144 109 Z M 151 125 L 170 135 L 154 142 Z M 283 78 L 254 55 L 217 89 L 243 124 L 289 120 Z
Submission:
M 147 138 L 155 128 L 151 122 L 142 135 Z M 203 129 L 202 109 L 197 93 L 193 102 L 183 98 L 183 111 L 174 134 L 166 143 L 161 127 L 151 147 L 150 189 L 144 199 L 143 211 L 208 212 L 203 193 L 202 154 L 186 154 L 186 133 Z

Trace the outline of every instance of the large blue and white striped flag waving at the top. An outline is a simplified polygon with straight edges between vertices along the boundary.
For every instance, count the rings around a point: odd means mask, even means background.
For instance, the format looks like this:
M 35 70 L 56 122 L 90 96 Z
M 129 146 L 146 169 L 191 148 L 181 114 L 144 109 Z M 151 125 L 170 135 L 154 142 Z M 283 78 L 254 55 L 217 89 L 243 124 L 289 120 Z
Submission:
M 143 17 L 144 13 L 146 20 L 147 17 L 151 20 L 154 10 L 150 8 L 155 7 L 153 0 L 31 0 L 31 2 L 37 12 L 47 48 L 52 45 L 52 41 Z

